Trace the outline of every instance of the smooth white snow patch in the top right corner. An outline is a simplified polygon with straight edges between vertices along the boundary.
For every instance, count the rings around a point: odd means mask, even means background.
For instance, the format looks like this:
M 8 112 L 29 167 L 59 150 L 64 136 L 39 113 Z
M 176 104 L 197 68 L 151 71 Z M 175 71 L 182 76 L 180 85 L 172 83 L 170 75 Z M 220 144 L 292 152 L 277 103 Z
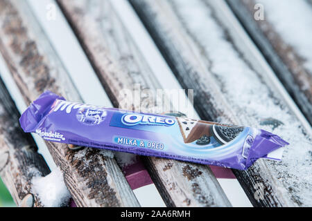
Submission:
M 304 0 L 259 0 L 266 20 L 305 59 L 304 66 L 312 74 L 312 6 Z

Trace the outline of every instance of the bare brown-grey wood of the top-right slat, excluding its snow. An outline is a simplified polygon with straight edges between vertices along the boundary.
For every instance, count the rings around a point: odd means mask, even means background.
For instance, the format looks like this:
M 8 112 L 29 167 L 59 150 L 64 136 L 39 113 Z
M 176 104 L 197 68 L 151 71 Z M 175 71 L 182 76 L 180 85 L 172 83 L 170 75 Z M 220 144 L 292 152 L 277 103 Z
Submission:
M 270 13 L 266 10 L 266 5 L 263 5 L 266 19 L 257 21 L 254 19 L 256 12 L 254 6 L 261 2 L 228 0 L 227 3 L 266 57 L 288 93 L 312 124 L 312 73 L 304 66 L 305 58 L 288 44 L 288 41 L 279 35 L 275 27 L 272 26 L 268 19 Z M 288 14 L 288 12 L 285 13 Z M 311 26 L 306 28 L 311 29 Z

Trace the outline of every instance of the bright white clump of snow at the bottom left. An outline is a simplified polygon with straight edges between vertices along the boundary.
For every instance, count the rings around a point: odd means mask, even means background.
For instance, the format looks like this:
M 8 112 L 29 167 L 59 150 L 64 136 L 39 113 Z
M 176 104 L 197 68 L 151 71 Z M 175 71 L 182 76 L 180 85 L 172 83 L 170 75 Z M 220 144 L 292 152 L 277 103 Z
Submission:
M 36 193 L 45 207 L 66 206 L 71 195 L 64 183 L 62 172 L 55 168 L 45 177 L 34 177 L 33 193 Z

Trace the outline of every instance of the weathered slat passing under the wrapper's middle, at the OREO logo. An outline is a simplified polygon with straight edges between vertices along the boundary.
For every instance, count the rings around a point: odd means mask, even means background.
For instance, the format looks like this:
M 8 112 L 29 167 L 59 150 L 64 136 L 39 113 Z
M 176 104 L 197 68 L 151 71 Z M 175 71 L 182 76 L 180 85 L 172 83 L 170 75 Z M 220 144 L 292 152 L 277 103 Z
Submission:
M 109 1 L 58 1 L 76 31 L 90 61 L 115 106 L 138 110 L 153 108 L 154 95 L 144 89 L 162 88 L 137 46 L 129 37 Z M 139 84 L 141 102 L 123 104 L 124 89 Z M 144 157 L 159 193 L 168 206 L 230 206 L 207 166 Z

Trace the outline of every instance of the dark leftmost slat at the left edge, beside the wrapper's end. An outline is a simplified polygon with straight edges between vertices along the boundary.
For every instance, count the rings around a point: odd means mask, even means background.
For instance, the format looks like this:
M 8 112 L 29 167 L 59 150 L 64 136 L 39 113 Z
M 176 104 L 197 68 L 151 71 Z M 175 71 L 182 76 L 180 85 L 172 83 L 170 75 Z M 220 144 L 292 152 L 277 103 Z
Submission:
M 17 205 L 32 193 L 33 177 L 50 173 L 31 135 L 19 126 L 19 113 L 0 79 L 0 176 Z M 35 207 L 42 203 L 34 194 Z

